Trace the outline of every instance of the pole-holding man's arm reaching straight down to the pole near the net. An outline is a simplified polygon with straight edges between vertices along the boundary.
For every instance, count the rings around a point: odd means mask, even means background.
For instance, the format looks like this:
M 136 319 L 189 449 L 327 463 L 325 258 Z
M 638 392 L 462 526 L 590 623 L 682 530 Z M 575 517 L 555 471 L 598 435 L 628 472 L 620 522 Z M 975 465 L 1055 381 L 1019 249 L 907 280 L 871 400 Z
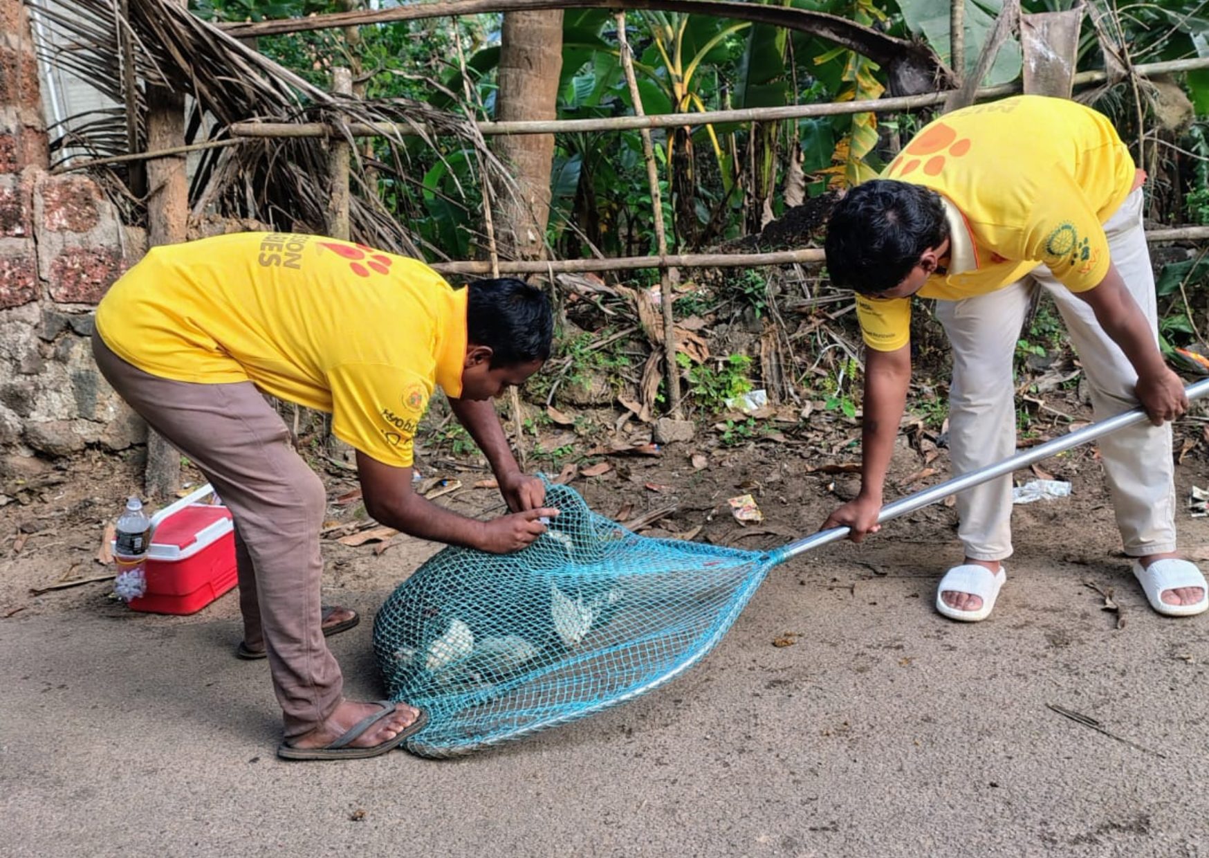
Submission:
M 849 539 L 860 542 L 879 530 L 886 471 L 898 438 L 898 424 L 907 407 L 910 385 L 910 345 L 895 351 L 867 349 L 864 402 L 861 430 L 861 491 L 835 509 L 820 530 L 846 526 Z

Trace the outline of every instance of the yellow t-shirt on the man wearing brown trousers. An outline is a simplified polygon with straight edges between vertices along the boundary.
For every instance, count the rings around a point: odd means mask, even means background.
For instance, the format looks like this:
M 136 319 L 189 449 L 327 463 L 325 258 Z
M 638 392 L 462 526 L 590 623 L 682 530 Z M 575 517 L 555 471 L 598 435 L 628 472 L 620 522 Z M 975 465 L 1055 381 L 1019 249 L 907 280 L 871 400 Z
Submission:
M 412 463 L 434 385 L 462 393 L 467 290 L 415 259 L 319 236 L 239 232 L 152 248 L 97 306 L 122 359 L 161 378 L 251 381 Z

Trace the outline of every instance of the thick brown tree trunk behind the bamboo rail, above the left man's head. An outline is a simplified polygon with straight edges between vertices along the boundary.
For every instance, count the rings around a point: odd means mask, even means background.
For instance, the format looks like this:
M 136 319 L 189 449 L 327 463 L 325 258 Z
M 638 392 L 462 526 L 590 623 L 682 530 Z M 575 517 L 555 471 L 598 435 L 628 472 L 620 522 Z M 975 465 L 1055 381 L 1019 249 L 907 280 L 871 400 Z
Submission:
M 497 119 L 555 119 L 562 71 L 562 10 L 507 12 L 499 51 Z M 545 255 L 550 217 L 553 134 L 516 134 L 496 142 L 515 184 L 497 189 L 501 252 L 516 259 Z

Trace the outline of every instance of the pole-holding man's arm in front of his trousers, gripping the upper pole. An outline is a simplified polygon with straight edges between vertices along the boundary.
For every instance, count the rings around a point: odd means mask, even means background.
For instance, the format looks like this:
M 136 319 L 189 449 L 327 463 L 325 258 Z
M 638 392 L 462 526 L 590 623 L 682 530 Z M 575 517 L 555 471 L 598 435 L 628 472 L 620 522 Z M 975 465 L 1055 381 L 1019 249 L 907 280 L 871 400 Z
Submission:
M 1163 361 L 1155 332 L 1116 266 L 1109 265 L 1109 272 L 1094 288 L 1075 294 L 1092 307 L 1095 321 L 1133 364 L 1138 373 L 1134 392 L 1151 422 L 1161 426 L 1187 411 L 1184 382 Z

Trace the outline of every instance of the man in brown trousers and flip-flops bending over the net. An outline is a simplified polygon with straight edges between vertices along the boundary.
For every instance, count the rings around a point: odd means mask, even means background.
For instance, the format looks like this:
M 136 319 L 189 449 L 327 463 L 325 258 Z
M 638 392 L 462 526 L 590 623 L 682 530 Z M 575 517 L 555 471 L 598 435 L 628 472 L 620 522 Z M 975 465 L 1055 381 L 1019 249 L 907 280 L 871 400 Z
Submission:
M 97 307 L 93 355 L 147 425 L 197 465 L 236 528 L 244 638 L 268 658 L 285 759 L 374 756 L 423 727 L 355 703 L 324 641 L 357 615 L 319 604 L 323 482 L 265 395 L 331 414 L 357 450 L 366 512 L 422 539 L 505 553 L 545 530 L 491 401 L 550 356 L 553 316 L 517 280 L 451 288 L 413 259 L 332 238 L 243 232 L 156 247 Z M 482 449 L 510 513 L 480 522 L 412 490 L 412 442 L 436 385 Z

